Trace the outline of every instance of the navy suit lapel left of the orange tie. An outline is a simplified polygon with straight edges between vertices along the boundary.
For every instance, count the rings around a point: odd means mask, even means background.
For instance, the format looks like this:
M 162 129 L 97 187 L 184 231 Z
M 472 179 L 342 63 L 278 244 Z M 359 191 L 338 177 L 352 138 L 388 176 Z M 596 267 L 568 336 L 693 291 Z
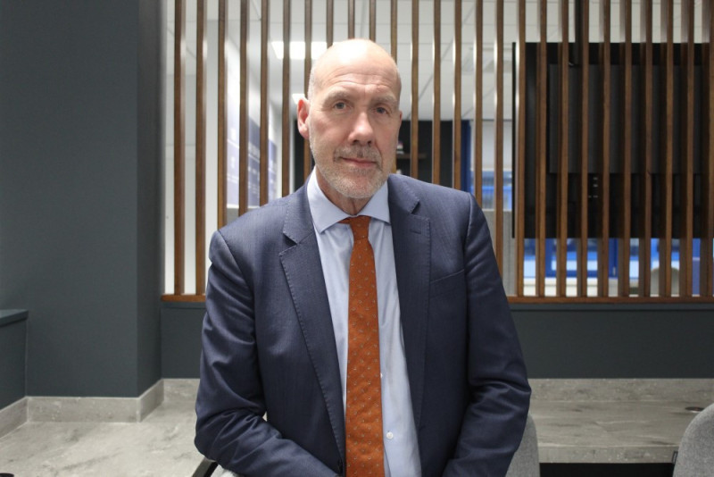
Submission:
M 280 261 L 293 297 L 305 346 L 325 398 L 337 448 L 345 456 L 345 412 L 335 333 L 305 187 L 295 193 L 288 205 L 283 233 L 295 245 L 280 254 Z

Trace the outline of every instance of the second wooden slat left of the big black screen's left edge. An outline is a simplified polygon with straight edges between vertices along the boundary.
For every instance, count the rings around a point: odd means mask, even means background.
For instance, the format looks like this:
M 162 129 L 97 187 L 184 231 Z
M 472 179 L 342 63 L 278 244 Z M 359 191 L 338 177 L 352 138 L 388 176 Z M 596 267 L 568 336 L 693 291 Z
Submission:
M 494 43 L 494 253 L 503 272 L 503 0 L 496 4 Z

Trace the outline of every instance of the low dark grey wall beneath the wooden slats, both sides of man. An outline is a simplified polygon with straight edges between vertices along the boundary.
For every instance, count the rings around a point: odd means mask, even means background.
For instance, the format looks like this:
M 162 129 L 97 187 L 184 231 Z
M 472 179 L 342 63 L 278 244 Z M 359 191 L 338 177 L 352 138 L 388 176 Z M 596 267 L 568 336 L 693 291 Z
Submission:
M 197 378 L 203 304 L 162 309 L 165 377 Z M 511 305 L 530 378 L 714 378 L 714 304 Z

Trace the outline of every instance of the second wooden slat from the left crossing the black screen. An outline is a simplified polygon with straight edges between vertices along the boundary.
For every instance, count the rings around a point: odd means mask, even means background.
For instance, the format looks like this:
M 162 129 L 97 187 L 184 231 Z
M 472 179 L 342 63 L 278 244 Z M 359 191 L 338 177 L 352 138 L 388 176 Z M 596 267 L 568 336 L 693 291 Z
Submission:
M 566 295 L 568 251 L 568 146 L 569 146 L 569 0 L 559 0 L 560 43 L 558 45 L 558 186 L 555 294 Z

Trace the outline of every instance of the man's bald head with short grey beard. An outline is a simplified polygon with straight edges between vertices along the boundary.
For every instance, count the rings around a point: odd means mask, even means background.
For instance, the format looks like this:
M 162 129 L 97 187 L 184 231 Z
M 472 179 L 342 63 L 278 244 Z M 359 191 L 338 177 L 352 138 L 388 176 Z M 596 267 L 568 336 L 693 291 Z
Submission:
M 367 39 L 336 43 L 312 67 L 298 130 L 320 188 L 345 212 L 359 212 L 394 167 L 401 89 L 392 57 Z

